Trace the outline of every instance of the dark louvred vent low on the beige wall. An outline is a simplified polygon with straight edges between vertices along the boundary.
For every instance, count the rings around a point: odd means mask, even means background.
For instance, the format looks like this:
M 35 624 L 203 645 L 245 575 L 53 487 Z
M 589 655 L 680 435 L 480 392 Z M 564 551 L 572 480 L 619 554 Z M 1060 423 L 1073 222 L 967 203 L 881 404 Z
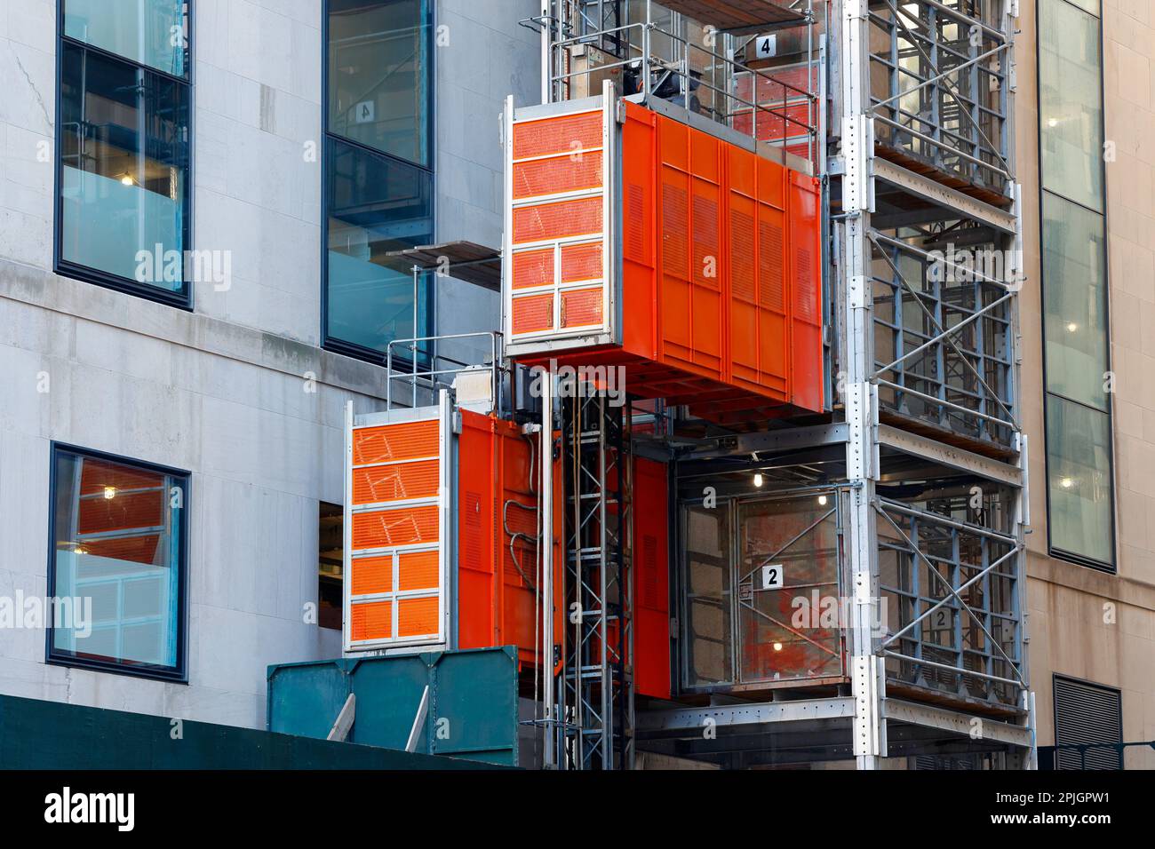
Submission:
M 1068 746 L 1123 743 L 1123 700 L 1118 690 L 1055 676 L 1055 766 L 1057 769 L 1123 769 L 1123 750 L 1112 745 L 1080 751 Z

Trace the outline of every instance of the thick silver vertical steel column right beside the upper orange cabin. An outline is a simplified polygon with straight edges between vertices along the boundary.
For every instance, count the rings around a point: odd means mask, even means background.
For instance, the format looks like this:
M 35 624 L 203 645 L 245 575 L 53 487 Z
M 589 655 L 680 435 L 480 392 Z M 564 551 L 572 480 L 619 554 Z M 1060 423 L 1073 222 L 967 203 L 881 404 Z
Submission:
M 873 206 L 871 159 L 867 0 L 841 0 L 839 51 L 842 84 L 842 209 L 840 291 L 843 299 L 843 374 L 847 477 L 851 485 L 847 513 L 848 563 L 851 586 L 851 686 L 855 698 L 854 752 L 859 769 L 874 769 L 886 754 L 881 703 L 885 671 L 874 651 L 878 621 L 878 544 L 873 515 L 875 397 L 874 328 L 870 297 L 870 213 Z

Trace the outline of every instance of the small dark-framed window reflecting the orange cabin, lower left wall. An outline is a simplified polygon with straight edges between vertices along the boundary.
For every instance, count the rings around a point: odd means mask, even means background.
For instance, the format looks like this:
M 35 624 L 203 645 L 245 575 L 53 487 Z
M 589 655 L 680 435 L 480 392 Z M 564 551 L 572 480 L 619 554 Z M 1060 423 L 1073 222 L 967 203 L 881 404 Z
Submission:
M 188 475 L 52 449 L 49 661 L 185 679 Z

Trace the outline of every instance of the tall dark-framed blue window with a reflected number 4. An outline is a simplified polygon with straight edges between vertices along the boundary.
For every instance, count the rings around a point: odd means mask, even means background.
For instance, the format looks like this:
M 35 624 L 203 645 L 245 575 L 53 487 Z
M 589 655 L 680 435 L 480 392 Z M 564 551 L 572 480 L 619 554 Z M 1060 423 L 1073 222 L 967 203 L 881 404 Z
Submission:
M 429 0 L 327 2 L 323 337 L 378 363 L 431 327 L 429 286 L 389 256 L 433 240 L 431 18 Z

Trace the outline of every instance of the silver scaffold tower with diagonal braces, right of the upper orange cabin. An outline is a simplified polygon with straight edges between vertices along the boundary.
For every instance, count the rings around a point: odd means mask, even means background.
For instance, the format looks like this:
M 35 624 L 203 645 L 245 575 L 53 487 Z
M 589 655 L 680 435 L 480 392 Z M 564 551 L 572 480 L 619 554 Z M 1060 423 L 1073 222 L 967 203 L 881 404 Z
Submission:
M 888 10 L 891 17 L 884 18 L 875 6 Z M 936 40 L 945 31 L 940 23 L 944 18 L 951 22 L 955 38 L 961 36 L 969 45 L 966 53 L 952 52 L 949 45 Z M 910 21 L 926 27 L 930 51 L 922 44 L 926 38 L 911 31 Z M 872 28 L 880 22 L 889 25 L 891 61 L 885 47 L 880 50 L 877 38 L 871 38 Z M 1008 228 L 1006 218 L 982 214 L 986 211 L 985 201 L 951 204 L 945 192 L 926 186 L 925 173 L 906 167 L 915 162 L 892 161 L 877 167 L 881 161 L 875 144 L 880 124 L 892 144 L 892 131 L 902 128 L 910 136 L 908 141 L 925 146 L 919 152 L 930 150 L 912 159 L 923 158 L 940 173 L 961 176 L 971 186 L 985 189 L 993 186 L 1014 198 L 1016 187 L 1006 149 L 1008 66 L 1000 64 L 993 74 L 988 69 L 983 77 L 994 80 L 988 88 L 994 89 L 996 109 L 983 112 L 975 96 L 982 64 L 996 57 L 1009 59 L 1013 21 L 1004 14 L 1000 27 L 993 28 L 964 14 L 961 3 L 949 7 L 936 0 L 901 8 L 889 1 L 842 0 L 839 23 L 835 57 L 842 83 L 841 156 L 832 170 L 841 184 L 842 211 L 835 225 L 836 291 L 843 318 L 840 341 L 843 410 L 849 430 L 847 476 L 854 485 L 848 515 L 848 557 L 855 576 L 857 613 L 851 642 L 854 753 L 859 768 L 870 769 L 888 754 L 887 717 L 893 714 L 887 710 L 892 701 L 887 686 L 895 680 L 945 690 L 960 699 L 975 691 L 991 699 L 991 688 L 1001 688 L 998 692 L 1011 697 L 1004 701 L 1021 708 L 1019 722 L 1028 729 L 1033 724 L 1022 648 L 1026 438 L 1014 409 L 1018 261 L 992 273 L 998 276 L 967 268 L 962 285 L 951 288 L 941 271 L 952 273 L 953 278 L 953 259 L 937 258 L 939 278 L 929 278 L 925 267 L 932 254 L 918 246 L 921 239 L 925 247 L 946 244 L 951 238 L 968 247 L 990 243 L 1003 248 L 1009 243 L 1008 255 L 1016 258 L 1015 241 L 1021 232 L 1018 209 L 1008 216 Z M 908 52 L 921 62 L 922 77 L 903 68 L 900 42 L 912 49 Z M 988 49 L 990 43 L 994 46 Z M 953 62 L 945 69 L 939 60 L 944 55 Z M 886 67 L 891 81 L 882 97 L 871 90 L 871 69 L 879 65 Z M 914 77 L 914 84 L 899 82 L 904 70 Z M 971 95 L 969 100 L 960 91 L 960 75 L 966 92 Z M 925 96 L 930 96 L 931 109 L 922 118 L 932 127 L 929 133 L 914 129 L 909 121 L 903 125 L 895 120 L 902 104 Z M 956 106 L 949 127 L 940 111 L 944 103 Z M 919 120 L 918 114 L 907 117 Z M 998 125 L 997 141 L 984 131 L 984 122 L 988 128 Z M 960 128 L 967 128 L 969 134 L 960 136 Z M 949 157 L 954 158 L 948 162 Z M 880 179 L 887 180 L 892 196 L 887 199 L 889 209 L 879 215 L 879 224 L 874 225 L 872 217 L 881 206 Z M 944 228 L 944 222 L 949 225 Z M 923 269 L 917 280 L 911 278 L 911 266 Z M 891 311 L 888 316 L 875 314 L 875 307 L 882 304 Z M 912 322 L 919 330 L 912 332 Z M 875 353 L 879 341 L 888 343 L 882 357 Z M 930 412 L 919 416 L 911 412 L 912 405 Z M 953 501 L 940 498 L 941 504 L 933 511 L 882 497 L 880 482 L 903 479 L 900 472 L 892 471 L 893 463 L 880 452 L 884 417 L 894 419 L 899 429 L 909 426 L 921 432 L 914 439 L 899 437 L 892 445 L 901 444 L 902 456 L 915 456 L 927 464 L 921 474 L 926 484 L 932 484 L 936 476 L 940 482 L 949 481 L 945 468 L 953 464 L 946 457 L 960 438 L 968 447 L 991 444 L 1007 448 L 1004 456 L 1018 455 L 1019 466 L 1012 468 L 1019 474 L 1009 476 L 1011 486 L 1004 486 L 1007 476 L 986 477 L 982 464 L 971 464 L 968 471 L 977 474 L 967 481 L 961 496 L 956 493 Z M 939 426 L 930 437 L 918 427 L 919 419 L 926 418 Z M 937 472 L 936 468 L 942 470 Z M 932 486 L 926 489 L 933 491 Z M 983 499 L 996 490 L 1000 494 L 993 509 Z M 939 492 L 951 492 L 949 485 L 942 485 Z M 977 493 L 981 506 L 967 513 L 969 492 Z M 966 516 L 962 521 L 956 517 L 960 511 Z M 1004 517 L 1006 527 L 991 527 L 997 523 L 996 516 Z M 880 536 L 886 539 L 880 541 Z M 888 561 L 897 576 L 891 579 L 893 586 L 880 583 L 880 550 L 894 557 L 893 564 Z M 889 603 L 900 613 L 895 630 L 881 635 L 869 631 L 880 602 Z M 942 625 L 939 631 L 933 630 L 936 618 Z M 966 716 L 967 712 L 960 713 Z M 1031 758 L 1018 762 L 1029 766 Z

